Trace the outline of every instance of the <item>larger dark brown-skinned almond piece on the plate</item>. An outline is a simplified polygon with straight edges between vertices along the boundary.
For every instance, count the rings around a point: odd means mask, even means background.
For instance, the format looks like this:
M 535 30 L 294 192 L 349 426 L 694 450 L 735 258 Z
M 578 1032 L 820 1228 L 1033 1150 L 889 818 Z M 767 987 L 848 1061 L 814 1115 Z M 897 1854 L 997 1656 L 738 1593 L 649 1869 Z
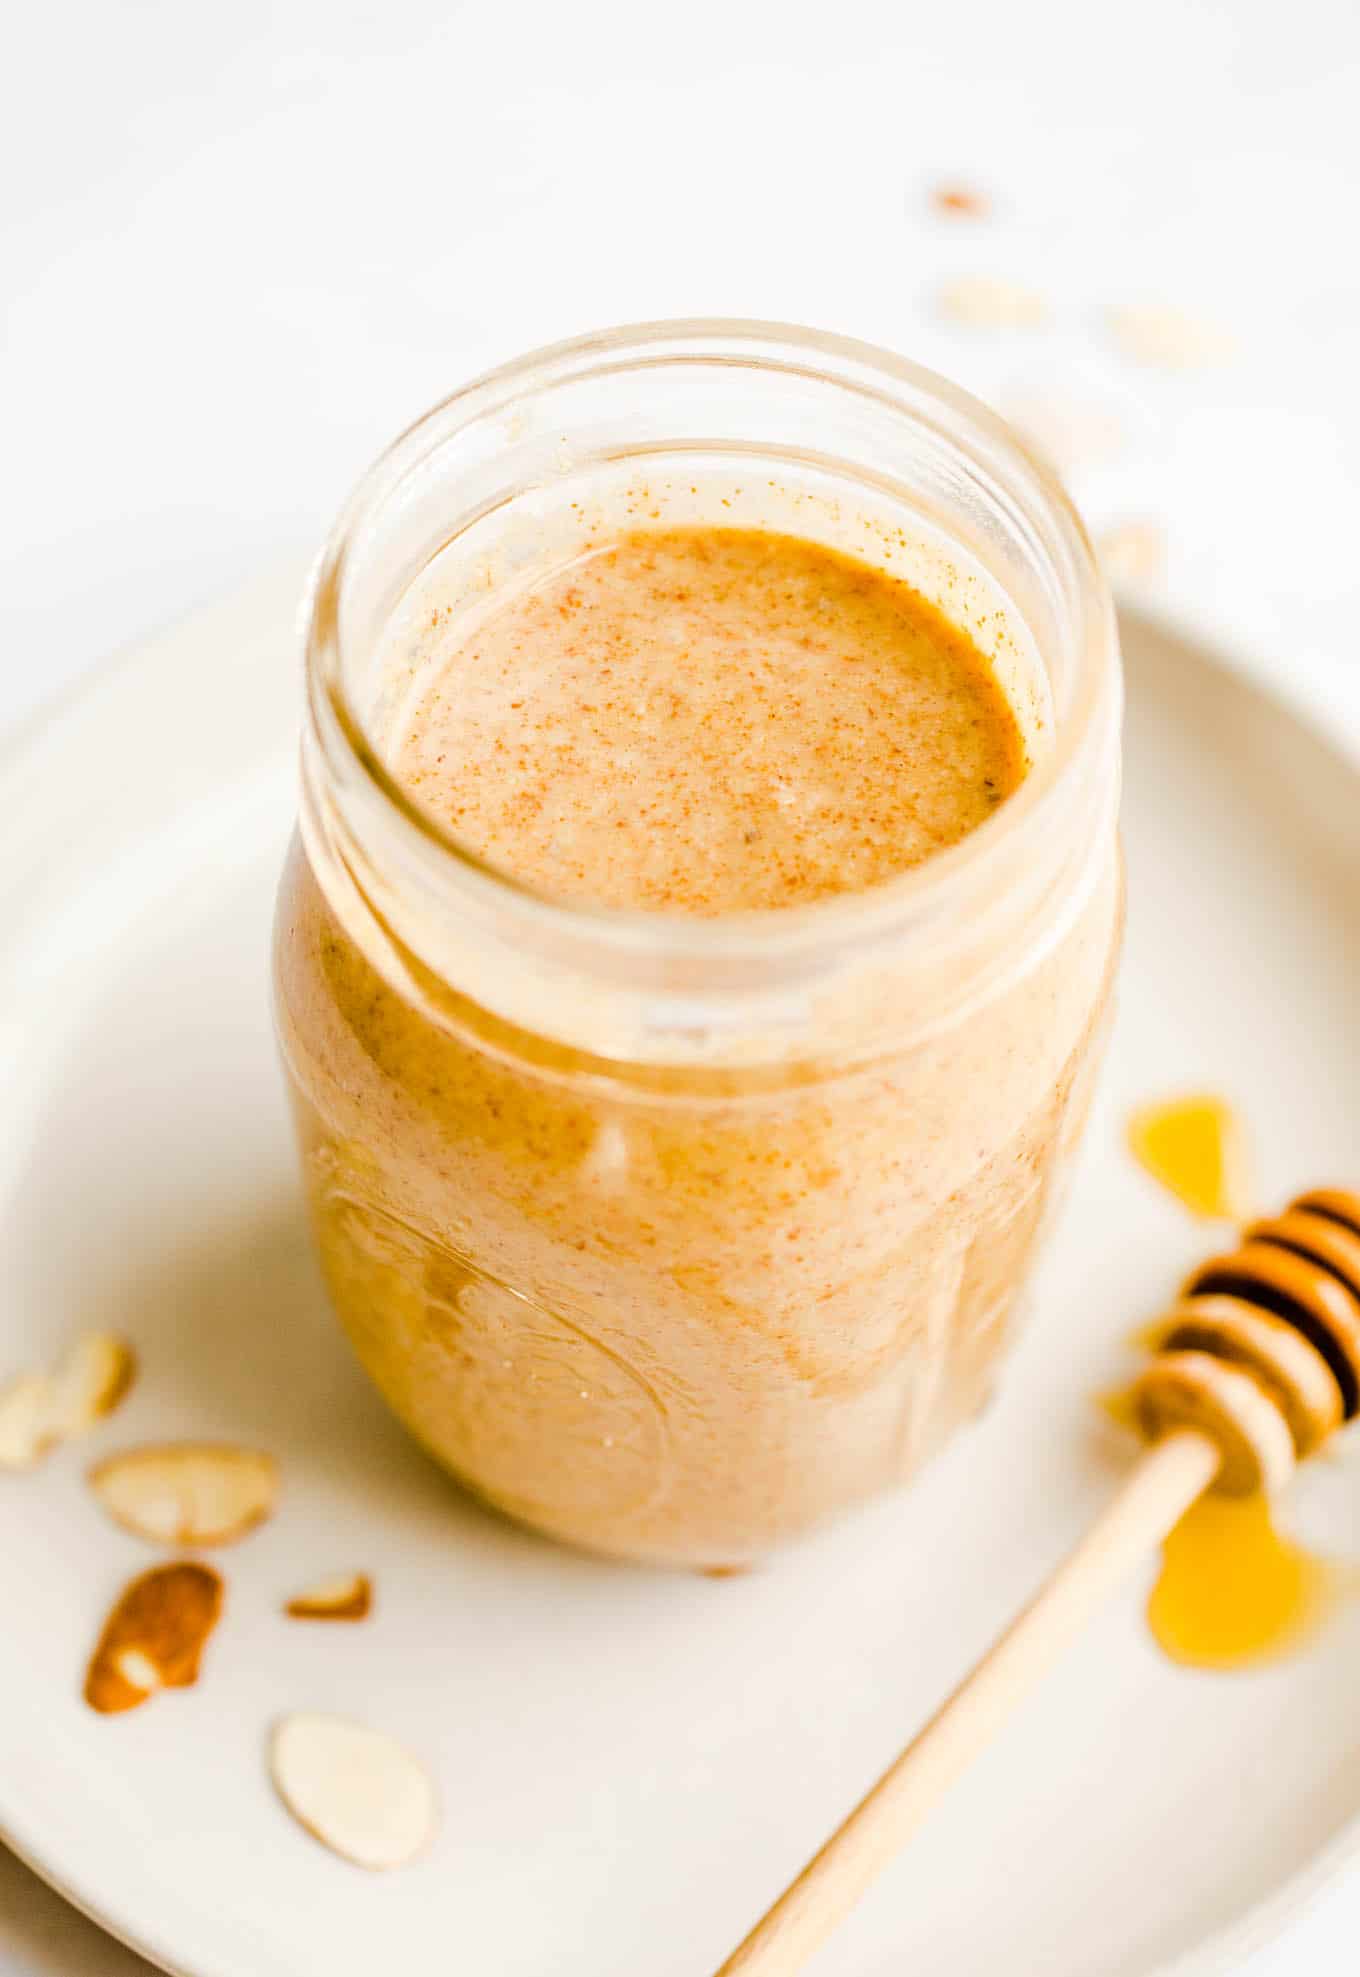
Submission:
M 221 1580 L 178 1560 L 142 1572 L 119 1595 L 85 1675 L 85 1700 L 101 1716 L 134 1710 L 158 1688 L 188 1688 L 221 1613 Z

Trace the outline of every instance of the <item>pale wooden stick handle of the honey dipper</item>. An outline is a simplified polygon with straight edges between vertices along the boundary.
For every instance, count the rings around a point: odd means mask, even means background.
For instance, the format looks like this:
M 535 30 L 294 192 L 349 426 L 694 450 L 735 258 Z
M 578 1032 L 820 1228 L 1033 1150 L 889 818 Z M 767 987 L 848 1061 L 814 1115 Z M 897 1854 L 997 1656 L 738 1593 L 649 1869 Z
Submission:
M 1081 1542 L 733 1949 L 718 1977 L 793 1977 L 805 1967 L 1105 1595 L 1208 1489 L 1218 1465 L 1218 1447 L 1194 1429 L 1166 1435 L 1147 1451 Z

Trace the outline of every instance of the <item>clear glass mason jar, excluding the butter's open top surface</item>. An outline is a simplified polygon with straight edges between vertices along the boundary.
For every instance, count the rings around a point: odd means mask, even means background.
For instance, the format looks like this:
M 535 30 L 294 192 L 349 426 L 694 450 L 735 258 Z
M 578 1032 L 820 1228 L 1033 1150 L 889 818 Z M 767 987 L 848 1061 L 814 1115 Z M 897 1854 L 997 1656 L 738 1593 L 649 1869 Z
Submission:
M 591 530 L 696 520 L 850 550 L 965 625 L 1026 730 L 1016 795 L 890 884 L 720 919 L 546 898 L 449 836 L 383 751 L 411 587 L 437 559 L 474 623 Z M 465 1485 L 733 1566 L 978 1410 L 1107 1028 L 1119 714 L 1065 494 L 882 350 L 613 330 L 378 461 L 310 595 L 277 1014 L 336 1311 Z

